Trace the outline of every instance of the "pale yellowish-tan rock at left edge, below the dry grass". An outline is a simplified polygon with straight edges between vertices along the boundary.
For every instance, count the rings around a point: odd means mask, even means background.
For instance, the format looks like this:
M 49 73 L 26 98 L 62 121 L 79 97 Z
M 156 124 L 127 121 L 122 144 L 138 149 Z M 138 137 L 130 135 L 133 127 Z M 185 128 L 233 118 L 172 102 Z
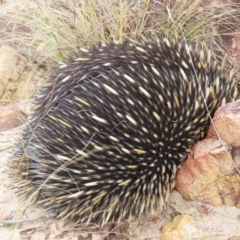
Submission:
M 35 66 L 36 68 L 36 66 Z M 36 68 L 37 69 L 37 68 Z M 2 102 L 16 102 L 34 96 L 37 86 L 48 74 L 28 62 L 12 47 L 0 47 L 0 99 Z M 46 77 L 39 75 L 45 74 Z

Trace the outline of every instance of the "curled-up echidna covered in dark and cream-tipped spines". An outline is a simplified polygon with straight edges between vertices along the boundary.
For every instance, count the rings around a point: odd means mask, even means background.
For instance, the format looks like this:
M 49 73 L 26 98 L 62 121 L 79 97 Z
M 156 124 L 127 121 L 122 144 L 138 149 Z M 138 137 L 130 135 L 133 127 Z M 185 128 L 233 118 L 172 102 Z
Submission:
M 237 96 L 224 62 L 174 38 L 81 49 L 36 97 L 12 160 L 15 186 L 79 223 L 162 210 L 210 116 Z

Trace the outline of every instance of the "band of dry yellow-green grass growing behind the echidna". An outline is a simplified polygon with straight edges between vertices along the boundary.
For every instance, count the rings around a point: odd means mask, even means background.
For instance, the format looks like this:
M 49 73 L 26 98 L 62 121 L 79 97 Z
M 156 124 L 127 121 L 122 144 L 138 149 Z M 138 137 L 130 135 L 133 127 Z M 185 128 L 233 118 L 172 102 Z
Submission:
M 96 42 L 169 34 L 193 41 L 205 39 L 219 50 L 220 36 L 232 35 L 239 27 L 240 9 L 228 4 L 205 6 L 202 2 L 8 1 L 0 8 L 5 23 L 0 45 L 17 42 L 37 62 L 65 59 L 77 47 Z

